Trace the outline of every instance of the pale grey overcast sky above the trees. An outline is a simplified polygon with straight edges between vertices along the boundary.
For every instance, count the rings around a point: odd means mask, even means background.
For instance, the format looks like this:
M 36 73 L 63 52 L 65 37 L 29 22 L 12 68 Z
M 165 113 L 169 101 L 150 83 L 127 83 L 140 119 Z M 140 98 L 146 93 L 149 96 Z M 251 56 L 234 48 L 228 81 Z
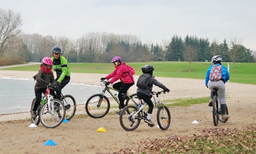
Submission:
M 236 37 L 256 50 L 256 0 L 0 0 L 0 8 L 20 12 L 25 34 L 109 32 L 159 44 L 174 34 Z

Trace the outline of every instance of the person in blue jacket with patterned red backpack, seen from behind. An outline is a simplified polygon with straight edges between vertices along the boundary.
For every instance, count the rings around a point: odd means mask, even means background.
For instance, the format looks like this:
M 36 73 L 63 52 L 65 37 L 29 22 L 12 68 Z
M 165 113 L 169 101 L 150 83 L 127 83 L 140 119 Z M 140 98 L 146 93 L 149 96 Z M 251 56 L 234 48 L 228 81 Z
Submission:
M 228 69 L 221 65 L 221 56 L 213 56 L 212 63 L 209 69 L 206 72 L 205 76 L 205 86 L 211 90 L 210 101 L 208 106 L 212 106 L 213 96 L 216 95 L 216 92 L 213 91 L 213 88 L 218 88 L 218 97 L 220 100 L 220 107 L 222 112 L 222 119 L 228 119 L 230 116 L 226 114 L 226 97 L 225 97 L 225 83 L 229 80 Z

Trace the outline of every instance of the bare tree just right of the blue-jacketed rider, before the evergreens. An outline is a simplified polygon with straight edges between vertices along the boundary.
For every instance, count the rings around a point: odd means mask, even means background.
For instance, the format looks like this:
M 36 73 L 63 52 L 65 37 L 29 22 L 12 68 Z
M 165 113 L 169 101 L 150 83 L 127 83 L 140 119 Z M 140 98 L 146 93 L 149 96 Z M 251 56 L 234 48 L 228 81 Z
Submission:
M 243 40 L 241 38 L 230 38 L 229 39 L 229 46 L 230 49 L 226 53 L 226 55 L 232 60 L 233 62 L 233 73 L 235 73 L 235 63 L 244 55 L 246 50 L 240 50 L 242 46 Z

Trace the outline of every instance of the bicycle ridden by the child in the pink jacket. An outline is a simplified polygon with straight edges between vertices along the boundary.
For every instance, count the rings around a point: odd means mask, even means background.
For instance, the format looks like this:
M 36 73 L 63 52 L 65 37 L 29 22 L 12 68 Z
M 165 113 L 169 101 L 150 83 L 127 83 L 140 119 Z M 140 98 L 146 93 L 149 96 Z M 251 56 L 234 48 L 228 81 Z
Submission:
M 110 91 L 110 90 L 115 90 L 116 92 L 119 92 L 119 90 L 106 85 L 107 81 L 101 80 L 100 82 L 101 83 L 103 82 L 103 84 L 105 85 L 105 87 L 102 86 L 102 88 L 104 88 L 102 92 L 100 94 L 95 94 L 89 97 L 85 104 L 85 111 L 92 118 L 102 118 L 108 113 L 110 109 L 110 102 L 108 97 L 105 96 L 106 91 L 108 91 L 108 93 L 115 99 L 115 101 L 119 105 L 119 109 L 121 108 L 120 102 L 118 101 L 116 96 Z M 139 99 L 135 98 L 136 96 L 137 96 L 136 94 L 132 94 L 132 95 L 128 95 L 127 93 L 124 94 L 124 100 L 127 99 L 125 106 L 127 105 L 138 106 L 140 103 L 139 103 Z M 148 111 L 148 109 L 149 109 L 148 106 L 145 107 L 146 111 Z M 130 112 L 128 111 L 128 113 Z

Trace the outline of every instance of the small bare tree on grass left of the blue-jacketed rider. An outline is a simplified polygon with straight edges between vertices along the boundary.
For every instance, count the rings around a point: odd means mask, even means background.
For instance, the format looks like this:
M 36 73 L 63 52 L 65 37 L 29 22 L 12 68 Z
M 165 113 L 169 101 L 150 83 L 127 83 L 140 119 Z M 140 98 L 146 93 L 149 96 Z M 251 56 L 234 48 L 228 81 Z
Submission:
M 191 72 L 191 63 L 198 58 L 198 51 L 191 45 L 185 46 L 184 59 L 189 63 L 189 72 Z

